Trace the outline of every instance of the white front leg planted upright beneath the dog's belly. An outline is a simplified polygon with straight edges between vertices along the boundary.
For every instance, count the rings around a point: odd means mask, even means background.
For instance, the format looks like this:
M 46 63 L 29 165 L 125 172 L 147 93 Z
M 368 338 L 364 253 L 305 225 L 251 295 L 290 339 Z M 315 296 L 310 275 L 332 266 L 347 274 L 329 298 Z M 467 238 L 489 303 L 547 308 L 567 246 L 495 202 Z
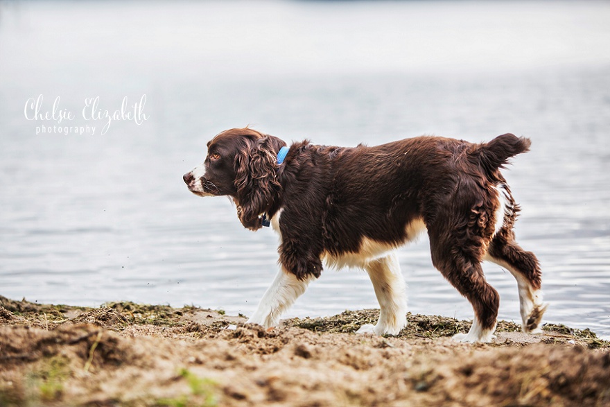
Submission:
M 398 335 L 407 324 L 407 287 L 396 252 L 369 261 L 365 269 L 375 288 L 381 311 L 376 325 L 365 324 L 357 333 Z

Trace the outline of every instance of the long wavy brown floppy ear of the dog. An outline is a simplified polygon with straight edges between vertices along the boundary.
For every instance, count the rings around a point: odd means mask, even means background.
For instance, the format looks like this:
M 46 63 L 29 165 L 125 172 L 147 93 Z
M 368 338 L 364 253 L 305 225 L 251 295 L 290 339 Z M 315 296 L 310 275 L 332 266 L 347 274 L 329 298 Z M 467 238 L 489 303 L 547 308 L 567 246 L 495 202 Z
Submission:
M 283 144 L 271 136 L 248 138 L 235 157 L 237 215 L 247 229 L 259 230 L 262 227 L 259 215 L 279 198 L 281 184 L 277 180 L 276 152 Z

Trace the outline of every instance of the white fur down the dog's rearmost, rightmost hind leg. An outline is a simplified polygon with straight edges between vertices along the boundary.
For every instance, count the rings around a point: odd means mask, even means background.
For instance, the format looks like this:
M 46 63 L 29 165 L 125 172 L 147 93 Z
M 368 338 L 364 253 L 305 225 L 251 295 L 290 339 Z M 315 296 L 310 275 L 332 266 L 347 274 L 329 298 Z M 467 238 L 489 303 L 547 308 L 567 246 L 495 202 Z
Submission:
M 504 261 L 494 259 L 494 257 L 487 256 L 485 260 L 492 261 L 498 266 L 507 269 L 517 281 L 517 288 L 519 288 L 519 311 L 521 311 L 521 329 L 523 332 L 529 334 L 540 334 L 541 320 L 544 311 L 548 307 L 548 304 L 543 303 L 543 295 L 541 290 L 534 290 L 527 279 L 525 279 L 521 273 L 514 270 Z M 532 329 L 532 327 L 535 327 Z

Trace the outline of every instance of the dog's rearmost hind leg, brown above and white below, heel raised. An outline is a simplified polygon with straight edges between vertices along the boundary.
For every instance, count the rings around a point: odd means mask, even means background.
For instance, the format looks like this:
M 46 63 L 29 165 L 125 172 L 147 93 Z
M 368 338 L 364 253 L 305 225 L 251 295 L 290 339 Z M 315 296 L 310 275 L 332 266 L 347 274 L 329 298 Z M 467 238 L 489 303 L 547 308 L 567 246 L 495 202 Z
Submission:
M 502 229 L 491 241 L 486 260 L 509 270 L 519 288 L 519 307 L 523 332 L 539 334 L 541 320 L 548 304 L 542 301 L 541 275 L 538 259 L 514 241 L 512 231 Z

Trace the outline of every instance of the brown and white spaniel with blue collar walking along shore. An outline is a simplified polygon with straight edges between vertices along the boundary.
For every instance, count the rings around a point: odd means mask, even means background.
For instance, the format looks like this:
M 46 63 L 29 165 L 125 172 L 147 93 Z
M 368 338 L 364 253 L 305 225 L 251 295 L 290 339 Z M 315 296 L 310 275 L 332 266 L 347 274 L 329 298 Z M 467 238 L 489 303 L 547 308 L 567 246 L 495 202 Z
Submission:
M 514 240 L 519 206 L 499 171 L 529 147 L 529 139 L 507 134 L 483 144 L 415 137 L 375 147 L 303 141 L 286 148 L 241 128 L 209 141 L 205 162 L 184 182 L 199 196 L 232 197 L 244 227 L 258 230 L 270 220 L 281 236 L 281 270 L 248 322 L 275 326 L 325 261 L 363 268 L 372 280 L 381 313 L 358 332 L 398 334 L 407 321 L 396 250 L 427 230 L 433 265 L 474 309 L 468 334 L 454 338 L 489 342 L 500 297 L 485 280 L 483 260 L 515 277 L 523 331 L 539 332 L 546 311 L 539 262 Z

